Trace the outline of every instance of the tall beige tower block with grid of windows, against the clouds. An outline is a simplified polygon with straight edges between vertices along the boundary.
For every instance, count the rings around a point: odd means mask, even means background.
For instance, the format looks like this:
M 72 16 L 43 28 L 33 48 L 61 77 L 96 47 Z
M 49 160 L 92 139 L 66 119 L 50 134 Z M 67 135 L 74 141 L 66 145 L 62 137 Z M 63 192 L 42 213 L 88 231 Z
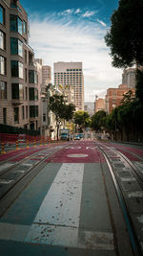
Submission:
M 73 104 L 76 110 L 84 110 L 84 77 L 82 62 L 53 63 L 54 85 L 72 86 L 74 92 Z

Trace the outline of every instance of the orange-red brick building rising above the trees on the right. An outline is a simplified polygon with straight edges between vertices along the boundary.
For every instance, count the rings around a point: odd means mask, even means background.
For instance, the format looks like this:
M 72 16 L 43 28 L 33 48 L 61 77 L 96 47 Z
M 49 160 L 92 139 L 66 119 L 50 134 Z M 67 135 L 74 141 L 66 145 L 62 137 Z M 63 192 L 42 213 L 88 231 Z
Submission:
M 134 93 L 134 88 L 128 88 L 127 84 L 120 84 L 118 88 L 109 88 L 105 97 L 105 111 L 111 114 L 116 106 L 121 105 L 124 94 L 129 90 Z

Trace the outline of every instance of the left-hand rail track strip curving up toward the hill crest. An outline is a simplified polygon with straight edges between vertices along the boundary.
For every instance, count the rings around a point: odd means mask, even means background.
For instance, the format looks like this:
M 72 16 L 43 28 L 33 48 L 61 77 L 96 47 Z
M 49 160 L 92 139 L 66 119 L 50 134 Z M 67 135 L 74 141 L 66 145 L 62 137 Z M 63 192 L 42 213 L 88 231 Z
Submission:
M 1 170 L 2 172 L 0 173 L 0 216 L 3 215 L 13 199 L 19 195 L 31 179 L 44 168 L 47 164 L 46 160 L 55 152 L 60 151 L 61 148 L 63 146 L 40 149 L 15 164 L 8 165 L 7 163 L 6 166 L 5 164 L 4 166 L 1 165 L 4 171 Z M 15 159 L 15 156 L 12 157 L 13 159 Z

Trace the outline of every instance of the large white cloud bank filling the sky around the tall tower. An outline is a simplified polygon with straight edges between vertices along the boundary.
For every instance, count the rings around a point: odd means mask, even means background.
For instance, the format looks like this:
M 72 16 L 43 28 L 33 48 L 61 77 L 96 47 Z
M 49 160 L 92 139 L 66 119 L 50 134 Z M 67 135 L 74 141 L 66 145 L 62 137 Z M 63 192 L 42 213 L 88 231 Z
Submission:
M 44 64 L 51 65 L 51 68 L 57 61 L 83 62 L 86 102 L 94 101 L 96 91 L 104 96 L 107 88 L 121 83 L 122 71 L 112 68 L 104 41 L 106 29 L 98 22 L 81 20 L 75 23 L 72 17 L 57 18 L 52 14 L 42 20 L 32 15 L 30 24 L 30 45 L 35 58 L 43 58 Z

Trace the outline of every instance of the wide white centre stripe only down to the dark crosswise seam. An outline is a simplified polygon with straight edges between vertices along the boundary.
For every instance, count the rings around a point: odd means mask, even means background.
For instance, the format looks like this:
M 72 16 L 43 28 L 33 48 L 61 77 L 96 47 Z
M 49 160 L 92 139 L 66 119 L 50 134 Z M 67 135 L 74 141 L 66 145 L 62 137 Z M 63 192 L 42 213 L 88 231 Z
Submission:
M 84 164 L 63 164 L 33 222 L 78 227 Z

